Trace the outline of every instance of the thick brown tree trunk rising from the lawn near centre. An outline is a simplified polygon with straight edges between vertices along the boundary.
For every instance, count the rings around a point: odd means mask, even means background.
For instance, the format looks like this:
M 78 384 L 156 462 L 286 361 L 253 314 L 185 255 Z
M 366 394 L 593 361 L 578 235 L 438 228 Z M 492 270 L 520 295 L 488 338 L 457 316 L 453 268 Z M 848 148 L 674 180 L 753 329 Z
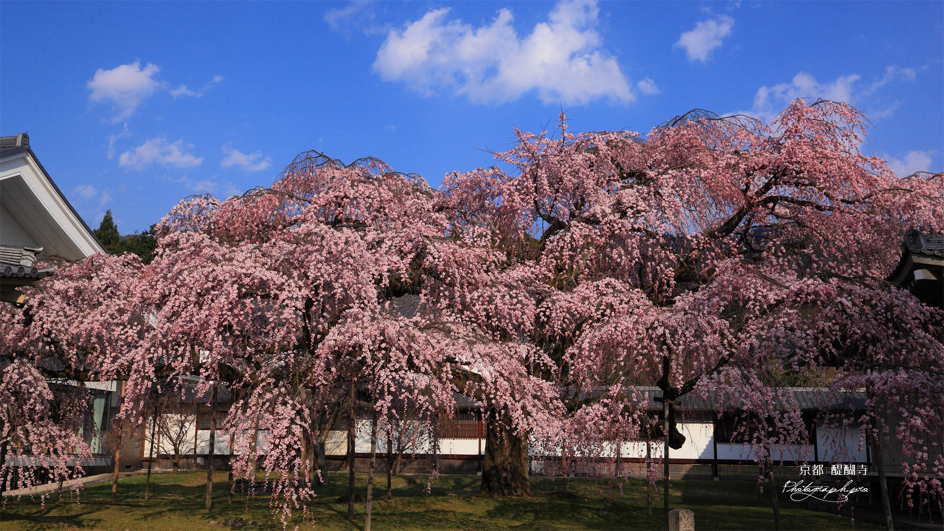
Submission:
M 510 429 L 511 418 L 498 421 L 493 411 L 485 425 L 485 462 L 481 472 L 482 494 L 492 496 L 532 496 L 528 476 L 528 440 Z

